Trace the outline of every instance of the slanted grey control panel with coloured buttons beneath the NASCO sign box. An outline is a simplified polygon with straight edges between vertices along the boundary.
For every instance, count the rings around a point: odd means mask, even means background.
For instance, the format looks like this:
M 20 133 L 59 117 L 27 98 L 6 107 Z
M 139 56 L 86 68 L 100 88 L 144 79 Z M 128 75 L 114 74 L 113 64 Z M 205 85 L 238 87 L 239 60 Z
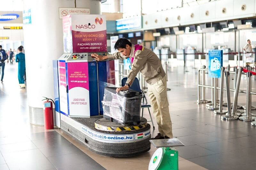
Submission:
M 93 53 L 69 53 L 70 55 L 68 56 L 68 62 L 84 62 L 84 61 L 95 61 L 94 58 L 92 58 Z M 99 55 L 106 56 L 108 53 L 97 53 Z M 62 54 L 63 55 L 63 54 Z

